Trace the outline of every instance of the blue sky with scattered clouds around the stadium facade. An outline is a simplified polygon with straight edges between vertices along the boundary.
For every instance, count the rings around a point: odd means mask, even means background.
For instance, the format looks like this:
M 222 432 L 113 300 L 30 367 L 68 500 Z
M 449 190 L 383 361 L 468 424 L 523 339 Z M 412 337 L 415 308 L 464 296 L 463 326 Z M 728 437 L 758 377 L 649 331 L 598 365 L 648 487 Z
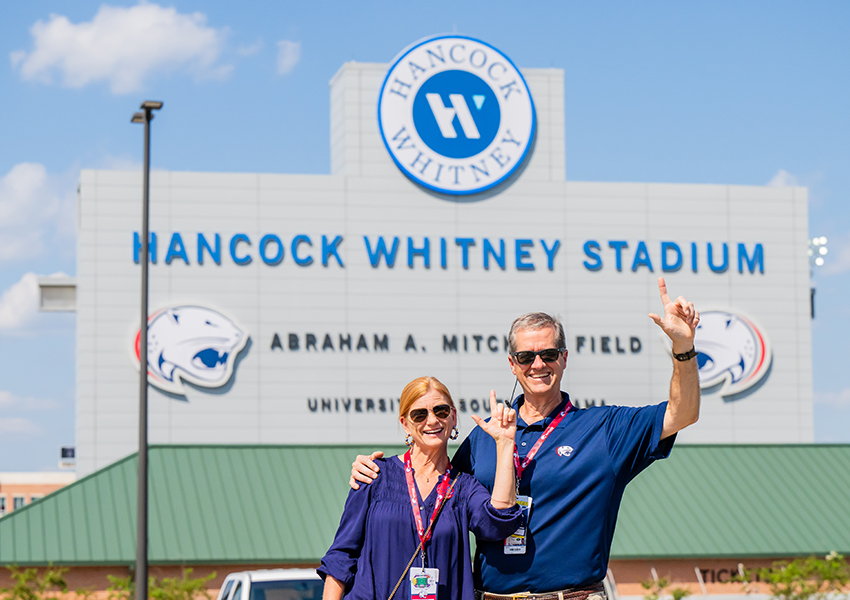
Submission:
M 327 173 L 328 82 L 425 36 L 483 39 L 566 73 L 580 181 L 809 188 L 815 439 L 850 442 L 850 4 L 33 0 L 0 8 L 0 471 L 74 442 L 74 316 L 35 275 L 75 273 L 82 168 Z M 683 227 L 685 225 L 683 224 Z

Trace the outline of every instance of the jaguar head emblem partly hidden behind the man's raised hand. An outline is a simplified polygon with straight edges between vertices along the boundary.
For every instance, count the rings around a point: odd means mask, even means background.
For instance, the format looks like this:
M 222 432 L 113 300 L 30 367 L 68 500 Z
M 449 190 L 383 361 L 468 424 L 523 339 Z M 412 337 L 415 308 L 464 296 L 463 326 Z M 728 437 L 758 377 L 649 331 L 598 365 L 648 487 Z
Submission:
M 694 346 L 700 388 L 716 388 L 726 400 L 740 398 L 770 371 L 770 342 L 752 319 L 728 310 L 700 311 Z

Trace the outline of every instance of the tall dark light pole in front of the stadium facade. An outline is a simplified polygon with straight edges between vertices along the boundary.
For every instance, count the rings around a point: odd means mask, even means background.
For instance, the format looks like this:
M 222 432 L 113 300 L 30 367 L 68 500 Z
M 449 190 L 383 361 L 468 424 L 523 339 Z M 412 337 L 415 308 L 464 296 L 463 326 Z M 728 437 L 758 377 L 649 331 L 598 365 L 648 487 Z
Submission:
M 131 123 L 145 124 L 145 163 L 142 176 L 142 319 L 139 326 L 139 489 L 136 498 L 136 599 L 148 598 L 148 206 L 151 178 L 151 121 L 162 102 L 146 100 Z

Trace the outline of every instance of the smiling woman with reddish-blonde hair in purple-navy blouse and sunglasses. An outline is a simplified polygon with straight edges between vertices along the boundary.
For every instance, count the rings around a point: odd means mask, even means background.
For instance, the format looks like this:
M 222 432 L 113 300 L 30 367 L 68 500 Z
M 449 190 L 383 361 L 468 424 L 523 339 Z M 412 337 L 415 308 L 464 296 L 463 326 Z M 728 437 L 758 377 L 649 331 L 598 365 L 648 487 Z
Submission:
M 522 518 L 513 464 L 516 411 L 497 404 L 490 392 L 490 413 L 487 422 L 472 418 L 496 440 L 492 497 L 474 477 L 451 468 L 446 448 L 457 437 L 457 411 L 446 386 L 433 377 L 407 384 L 399 422 L 409 450 L 378 459 L 381 477 L 349 492 L 318 569 L 323 600 L 389 600 L 400 578 L 393 600 L 474 600 L 469 532 L 505 539 Z

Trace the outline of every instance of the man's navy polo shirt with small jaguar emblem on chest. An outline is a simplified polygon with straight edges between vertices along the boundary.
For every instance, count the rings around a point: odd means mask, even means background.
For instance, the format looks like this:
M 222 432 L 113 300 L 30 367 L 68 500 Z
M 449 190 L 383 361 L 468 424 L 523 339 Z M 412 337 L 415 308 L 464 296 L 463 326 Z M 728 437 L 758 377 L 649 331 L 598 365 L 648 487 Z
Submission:
M 566 406 L 545 419 L 517 422 L 524 458 Z M 517 407 L 523 397 L 517 399 Z M 502 542 L 479 542 L 475 587 L 493 593 L 542 593 L 583 587 L 605 577 L 617 511 L 626 484 L 670 454 L 676 436 L 660 441 L 667 403 L 644 407 L 575 407 L 526 467 L 520 494 L 532 498 L 525 554 L 505 554 Z M 452 459 L 487 489 L 496 475 L 496 445 L 477 427 Z M 651 518 L 651 517 L 650 517 Z

